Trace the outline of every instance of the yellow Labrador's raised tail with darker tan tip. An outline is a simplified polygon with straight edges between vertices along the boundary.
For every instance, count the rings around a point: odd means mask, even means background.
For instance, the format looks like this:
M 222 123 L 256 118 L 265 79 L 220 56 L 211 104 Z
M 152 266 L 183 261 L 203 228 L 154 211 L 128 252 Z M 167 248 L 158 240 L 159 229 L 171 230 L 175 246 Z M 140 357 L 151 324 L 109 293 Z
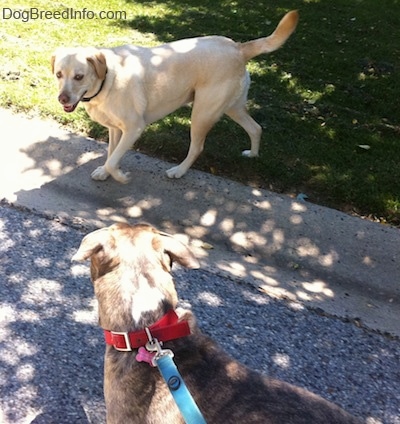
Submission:
M 240 44 L 239 48 L 246 62 L 262 53 L 279 49 L 296 29 L 298 20 L 297 10 L 292 10 L 286 13 L 270 36 Z

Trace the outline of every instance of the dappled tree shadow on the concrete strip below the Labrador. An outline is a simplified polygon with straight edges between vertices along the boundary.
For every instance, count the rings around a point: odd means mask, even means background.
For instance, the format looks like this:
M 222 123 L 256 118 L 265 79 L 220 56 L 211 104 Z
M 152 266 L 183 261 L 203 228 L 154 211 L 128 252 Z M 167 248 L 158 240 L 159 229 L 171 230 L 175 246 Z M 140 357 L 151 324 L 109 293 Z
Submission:
M 231 256 L 215 257 L 216 268 L 254 278 L 267 292 L 285 293 L 294 300 L 329 305 L 340 298 L 346 303 L 346 287 L 363 294 L 366 285 L 379 286 L 374 296 L 382 301 L 392 296 L 396 271 L 391 246 L 397 235 L 393 229 L 362 221 L 355 228 L 354 218 L 344 214 L 195 170 L 181 180 L 170 180 L 165 171 L 171 164 L 134 152 L 121 163 L 131 172 L 128 184 L 111 178 L 93 181 L 90 173 L 103 164 L 105 153 L 104 144 L 73 134 L 21 149 L 31 165 L 20 174 L 17 201 L 88 228 L 142 219 L 197 239 L 200 247 L 203 242 L 222 246 Z M 44 183 L 23 189 L 38 170 Z M 381 237 L 385 249 L 372 250 Z M 207 249 L 199 253 L 205 259 L 214 256 Z M 338 280 L 342 288 L 335 293 L 331 282 Z M 352 306 L 347 308 L 350 312 Z

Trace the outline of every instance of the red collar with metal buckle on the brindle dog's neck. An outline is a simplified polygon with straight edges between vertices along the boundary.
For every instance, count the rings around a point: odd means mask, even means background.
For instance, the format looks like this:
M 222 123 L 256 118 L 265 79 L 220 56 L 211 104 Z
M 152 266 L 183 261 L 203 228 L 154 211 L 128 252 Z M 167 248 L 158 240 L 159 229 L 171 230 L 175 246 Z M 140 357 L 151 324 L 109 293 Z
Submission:
M 179 339 L 190 334 L 189 323 L 179 321 L 178 315 L 172 309 L 148 328 L 151 335 L 160 342 Z M 130 332 L 104 330 L 104 337 L 107 344 L 121 352 L 131 352 L 149 341 L 145 330 Z

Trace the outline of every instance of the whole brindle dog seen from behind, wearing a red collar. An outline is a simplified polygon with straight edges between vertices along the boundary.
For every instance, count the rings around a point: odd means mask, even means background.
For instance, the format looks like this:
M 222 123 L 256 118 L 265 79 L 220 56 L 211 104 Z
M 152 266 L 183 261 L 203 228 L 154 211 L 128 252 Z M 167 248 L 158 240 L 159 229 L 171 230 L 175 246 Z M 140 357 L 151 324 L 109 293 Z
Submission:
M 177 309 L 172 262 L 199 267 L 177 239 L 147 224 L 115 224 L 83 239 L 73 260 L 89 258 L 103 329 L 139 334 L 171 310 L 179 323 L 188 322 L 191 334 L 165 342 L 164 347 L 174 352 L 174 361 L 208 424 L 361 422 L 315 394 L 250 370 L 202 334 L 192 312 Z M 107 423 L 183 423 L 158 369 L 138 362 L 137 348 L 132 350 L 106 347 Z

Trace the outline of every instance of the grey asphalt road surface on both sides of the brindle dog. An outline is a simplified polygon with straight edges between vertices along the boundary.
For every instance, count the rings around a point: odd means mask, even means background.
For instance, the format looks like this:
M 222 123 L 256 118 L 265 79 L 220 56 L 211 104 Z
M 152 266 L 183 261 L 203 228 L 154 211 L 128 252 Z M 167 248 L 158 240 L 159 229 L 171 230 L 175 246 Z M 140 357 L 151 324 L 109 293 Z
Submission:
M 104 345 L 88 267 L 70 262 L 83 235 L 0 205 L 0 423 L 105 422 Z M 400 424 L 399 340 L 207 270 L 175 275 L 182 306 L 242 362 L 369 424 Z

